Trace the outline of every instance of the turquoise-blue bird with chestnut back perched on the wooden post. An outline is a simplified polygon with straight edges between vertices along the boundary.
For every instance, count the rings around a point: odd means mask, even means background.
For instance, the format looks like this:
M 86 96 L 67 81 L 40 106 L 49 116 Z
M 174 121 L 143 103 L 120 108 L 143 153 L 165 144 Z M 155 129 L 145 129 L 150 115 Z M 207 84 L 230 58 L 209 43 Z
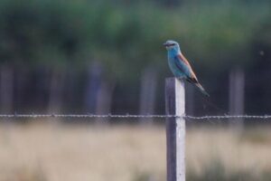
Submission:
M 167 50 L 168 64 L 171 71 L 173 71 L 173 75 L 176 78 L 184 79 L 194 84 L 205 96 L 209 97 L 210 95 L 204 90 L 194 71 L 192 71 L 190 63 L 183 56 L 179 43 L 168 40 L 164 43 L 164 46 Z

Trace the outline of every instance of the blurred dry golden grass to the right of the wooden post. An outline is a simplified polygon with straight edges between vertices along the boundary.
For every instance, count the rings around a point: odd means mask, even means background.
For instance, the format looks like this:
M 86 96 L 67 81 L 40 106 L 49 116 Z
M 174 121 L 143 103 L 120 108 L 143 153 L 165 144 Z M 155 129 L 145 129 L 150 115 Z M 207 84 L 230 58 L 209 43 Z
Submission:
M 197 174 L 220 162 L 226 174 L 248 171 L 253 176 L 271 170 L 271 132 L 266 129 L 190 129 L 187 160 Z

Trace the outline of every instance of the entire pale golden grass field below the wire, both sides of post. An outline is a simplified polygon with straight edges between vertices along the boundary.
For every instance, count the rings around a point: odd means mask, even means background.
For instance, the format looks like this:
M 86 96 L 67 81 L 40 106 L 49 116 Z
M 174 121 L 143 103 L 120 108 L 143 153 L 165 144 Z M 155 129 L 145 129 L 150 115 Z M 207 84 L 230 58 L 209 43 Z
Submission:
M 271 131 L 187 130 L 188 180 L 270 180 Z M 0 181 L 165 180 L 162 126 L 0 125 Z

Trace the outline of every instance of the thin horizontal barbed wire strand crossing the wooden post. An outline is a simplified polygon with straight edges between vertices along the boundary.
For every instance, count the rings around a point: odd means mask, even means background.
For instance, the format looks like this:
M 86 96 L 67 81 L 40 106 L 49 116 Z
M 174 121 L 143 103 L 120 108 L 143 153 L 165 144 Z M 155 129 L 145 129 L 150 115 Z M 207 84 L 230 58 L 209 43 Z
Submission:
M 0 114 L 0 119 L 271 119 L 271 115 L 222 115 L 222 116 L 189 116 L 189 115 L 135 115 L 135 114 Z

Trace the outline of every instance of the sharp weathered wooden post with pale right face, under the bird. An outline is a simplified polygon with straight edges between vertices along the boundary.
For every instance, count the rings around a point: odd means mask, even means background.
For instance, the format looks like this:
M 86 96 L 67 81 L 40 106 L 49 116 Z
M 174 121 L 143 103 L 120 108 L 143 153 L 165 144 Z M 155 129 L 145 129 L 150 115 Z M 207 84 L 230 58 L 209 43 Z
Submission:
M 165 80 L 166 115 L 184 115 L 184 82 L 176 78 Z M 166 119 L 167 181 L 185 181 L 185 120 Z

